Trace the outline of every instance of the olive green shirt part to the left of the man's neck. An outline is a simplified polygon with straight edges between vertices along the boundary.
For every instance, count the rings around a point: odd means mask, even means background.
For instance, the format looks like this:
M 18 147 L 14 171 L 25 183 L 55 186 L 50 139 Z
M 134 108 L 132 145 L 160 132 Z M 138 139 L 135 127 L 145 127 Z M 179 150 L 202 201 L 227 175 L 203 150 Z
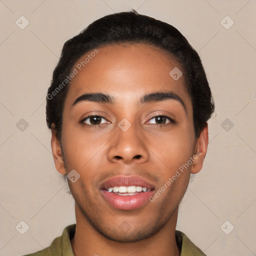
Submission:
M 23 256 L 73 256 L 70 237 L 72 237 L 75 232 L 75 226 L 76 224 L 66 226 L 62 235 L 56 237 L 49 247 Z

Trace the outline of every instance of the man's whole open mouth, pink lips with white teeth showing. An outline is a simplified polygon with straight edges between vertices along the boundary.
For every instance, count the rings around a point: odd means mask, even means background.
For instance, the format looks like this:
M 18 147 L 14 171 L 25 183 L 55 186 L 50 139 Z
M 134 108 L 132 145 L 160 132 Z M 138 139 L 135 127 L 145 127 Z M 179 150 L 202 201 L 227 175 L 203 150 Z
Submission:
M 116 176 L 106 180 L 100 192 L 110 206 L 132 210 L 148 201 L 154 193 L 154 186 L 138 176 Z

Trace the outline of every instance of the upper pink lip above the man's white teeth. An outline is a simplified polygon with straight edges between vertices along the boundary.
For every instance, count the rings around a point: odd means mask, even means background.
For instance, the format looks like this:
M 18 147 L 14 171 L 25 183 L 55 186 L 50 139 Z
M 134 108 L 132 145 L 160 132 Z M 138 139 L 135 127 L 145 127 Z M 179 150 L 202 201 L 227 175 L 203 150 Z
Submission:
M 104 181 L 101 184 L 100 189 L 108 189 L 109 187 L 113 187 L 113 186 L 142 186 L 142 187 L 146 187 L 147 189 L 154 189 L 153 184 L 147 182 L 145 179 L 136 175 L 114 176 Z

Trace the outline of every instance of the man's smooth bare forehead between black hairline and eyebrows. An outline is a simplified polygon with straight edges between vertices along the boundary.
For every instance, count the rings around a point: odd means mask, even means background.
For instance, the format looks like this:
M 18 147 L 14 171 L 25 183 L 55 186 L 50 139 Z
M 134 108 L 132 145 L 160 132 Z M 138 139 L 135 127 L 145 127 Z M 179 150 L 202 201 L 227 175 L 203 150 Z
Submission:
M 117 100 L 136 101 L 141 94 L 166 90 L 182 95 L 184 101 L 190 100 L 183 75 L 178 79 L 172 76 L 172 70 L 182 72 L 180 63 L 152 45 L 136 43 L 92 49 L 74 68 L 77 73 L 71 80 L 67 101 L 85 92 L 106 92 Z

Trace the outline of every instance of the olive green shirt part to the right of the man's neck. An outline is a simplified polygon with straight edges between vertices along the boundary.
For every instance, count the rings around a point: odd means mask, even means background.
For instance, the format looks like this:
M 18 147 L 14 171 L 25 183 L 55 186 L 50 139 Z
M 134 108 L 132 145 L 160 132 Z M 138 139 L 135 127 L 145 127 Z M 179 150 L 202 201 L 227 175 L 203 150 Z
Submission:
M 175 237 L 180 256 L 206 256 L 183 232 L 176 230 Z

